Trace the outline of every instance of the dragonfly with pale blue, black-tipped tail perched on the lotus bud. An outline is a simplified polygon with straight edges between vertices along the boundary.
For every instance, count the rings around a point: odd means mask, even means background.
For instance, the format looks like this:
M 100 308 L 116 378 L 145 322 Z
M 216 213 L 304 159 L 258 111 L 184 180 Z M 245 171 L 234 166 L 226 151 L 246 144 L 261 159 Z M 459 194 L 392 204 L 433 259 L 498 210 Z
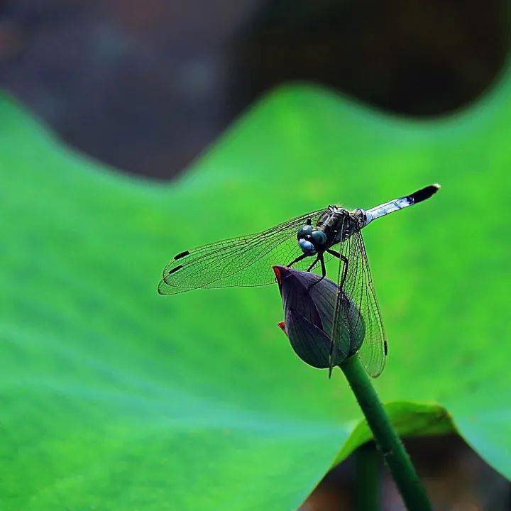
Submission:
M 334 339 L 339 339 L 339 329 L 348 328 L 347 296 L 365 322 L 358 353 L 367 372 L 376 378 L 385 366 L 388 343 L 361 231 L 375 219 L 429 199 L 439 188 L 429 185 L 370 209 L 328 206 L 265 231 L 190 248 L 165 266 L 158 292 L 175 295 L 199 288 L 268 285 L 275 282 L 274 265 L 320 272 L 321 280 L 326 277 L 325 263 L 339 260 L 329 375 L 337 348 Z

